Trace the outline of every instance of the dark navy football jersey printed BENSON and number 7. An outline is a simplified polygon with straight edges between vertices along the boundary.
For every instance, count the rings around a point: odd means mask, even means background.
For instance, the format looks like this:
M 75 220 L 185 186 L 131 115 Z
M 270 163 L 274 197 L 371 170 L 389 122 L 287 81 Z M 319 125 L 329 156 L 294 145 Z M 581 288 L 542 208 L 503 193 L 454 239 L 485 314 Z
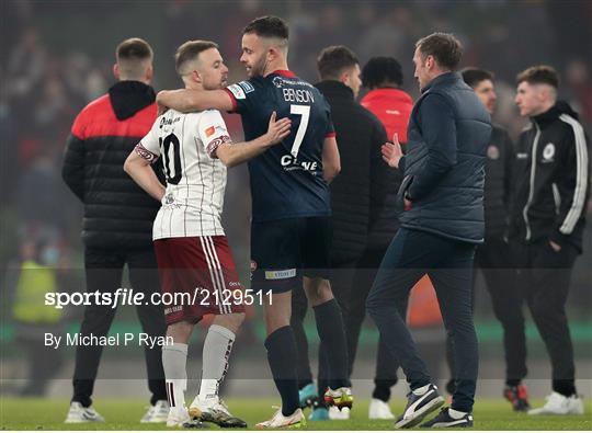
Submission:
M 334 136 L 323 95 L 291 71 L 229 86 L 246 140 L 267 132 L 270 117 L 292 119 L 284 140 L 249 161 L 253 221 L 329 216 L 329 186 L 322 178 L 325 138 Z

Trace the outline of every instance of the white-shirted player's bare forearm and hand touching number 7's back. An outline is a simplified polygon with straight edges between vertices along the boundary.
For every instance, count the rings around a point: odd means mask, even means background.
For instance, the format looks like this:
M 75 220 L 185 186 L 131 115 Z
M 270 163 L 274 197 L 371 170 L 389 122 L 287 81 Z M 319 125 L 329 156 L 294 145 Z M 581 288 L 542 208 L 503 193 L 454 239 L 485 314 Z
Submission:
M 254 140 L 236 145 L 223 143 L 217 146 L 215 156 L 228 168 L 238 166 L 282 143 L 289 135 L 291 126 L 292 121 L 288 117 L 276 119 L 276 113 L 273 112 L 265 134 Z

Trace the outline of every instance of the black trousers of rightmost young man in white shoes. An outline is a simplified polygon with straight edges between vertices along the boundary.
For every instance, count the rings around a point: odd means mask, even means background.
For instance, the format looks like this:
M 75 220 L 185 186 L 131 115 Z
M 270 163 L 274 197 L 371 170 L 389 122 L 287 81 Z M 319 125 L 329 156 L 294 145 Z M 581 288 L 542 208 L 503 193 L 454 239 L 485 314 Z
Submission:
M 576 392 L 576 366 L 566 303 L 578 250 L 566 243 L 555 252 L 547 240 L 513 242 L 511 248 L 516 290 L 523 294 L 550 357 L 553 389 L 570 396 Z

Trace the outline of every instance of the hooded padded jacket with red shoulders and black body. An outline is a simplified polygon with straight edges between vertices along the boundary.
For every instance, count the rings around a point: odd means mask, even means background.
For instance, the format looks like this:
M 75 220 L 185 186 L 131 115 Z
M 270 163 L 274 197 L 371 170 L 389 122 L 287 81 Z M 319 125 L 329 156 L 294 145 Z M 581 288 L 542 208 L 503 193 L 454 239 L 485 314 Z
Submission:
M 87 105 L 72 125 L 61 176 L 84 204 L 86 247 L 152 248 L 160 203 L 125 173 L 123 164 L 157 117 L 155 99 L 151 87 L 121 81 Z

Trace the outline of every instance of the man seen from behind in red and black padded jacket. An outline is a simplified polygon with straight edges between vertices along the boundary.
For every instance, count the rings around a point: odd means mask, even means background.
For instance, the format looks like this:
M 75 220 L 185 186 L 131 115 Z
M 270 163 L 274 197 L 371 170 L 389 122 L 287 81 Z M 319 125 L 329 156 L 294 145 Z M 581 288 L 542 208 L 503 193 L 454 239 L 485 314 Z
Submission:
M 123 164 L 157 117 L 156 94 L 149 86 L 152 49 L 145 41 L 130 38 L 119 44 L 116 59 L 113 72 L 118 82 L 73 122 L 61 175 L 84 204 L 87 292 L 114 295 L 127 263 L 134 290 L 150 299 L 152 293 L 160 292 L 152 249 L 152 221 L 160 203 L 136 185 Z M 115 311 L 112 305 L 88 305 L 80 335 L 106 335 Z M 148 301 L 137 306 L 137 311 L 145 333 L 164 335 L 161 306 Z M 91 407 L 101 353 L 101 345 L 77 346 L 73 397 L 66 422 L 104 421 Z M 146 347 L 145 354 L 152 397 L 143 422 L 164 422 L 168 404 L 161 347 Z

